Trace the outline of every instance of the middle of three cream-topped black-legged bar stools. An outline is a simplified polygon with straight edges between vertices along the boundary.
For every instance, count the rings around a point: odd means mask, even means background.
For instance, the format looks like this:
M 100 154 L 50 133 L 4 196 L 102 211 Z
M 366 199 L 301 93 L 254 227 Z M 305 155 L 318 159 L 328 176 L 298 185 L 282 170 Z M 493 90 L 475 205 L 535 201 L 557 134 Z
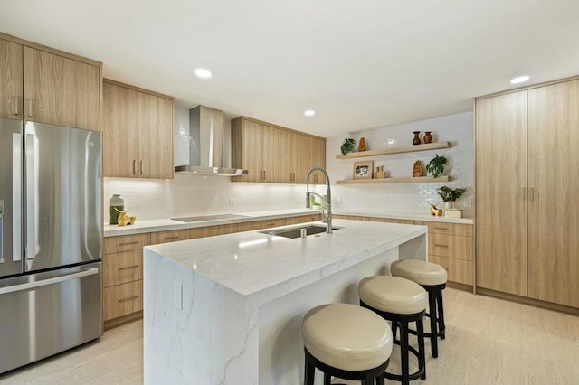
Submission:
M 392 276 L 365 277 L 358 284 L 360 305 L 366 307 L 385 320 L 391 321 L 393 332 L 400 326 L 400 340 L 394 343 L 400 346 L 401 374 L 386 372 L 384 376 L 389 380 L 401 381 L 407 385 L 411 380 L 419 377 L 426 378 L 426 361 L 424 356 L 424 326 L 422 320 L 426 311 L 426 291 L 408 279 Z M 418 350 L 408 343 L 408 325 L 416 323 L 418 331 Z M 418 371 L 410 373 L 409 353 L 418 360 Z

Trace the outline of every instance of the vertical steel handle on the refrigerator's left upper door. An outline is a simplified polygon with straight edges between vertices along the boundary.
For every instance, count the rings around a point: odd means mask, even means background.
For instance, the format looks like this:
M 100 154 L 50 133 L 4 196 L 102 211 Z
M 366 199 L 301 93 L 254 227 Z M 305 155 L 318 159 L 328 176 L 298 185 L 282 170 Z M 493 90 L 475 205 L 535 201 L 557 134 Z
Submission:
M 12 260 L 22 260 L 22 134 L 12 134 Z

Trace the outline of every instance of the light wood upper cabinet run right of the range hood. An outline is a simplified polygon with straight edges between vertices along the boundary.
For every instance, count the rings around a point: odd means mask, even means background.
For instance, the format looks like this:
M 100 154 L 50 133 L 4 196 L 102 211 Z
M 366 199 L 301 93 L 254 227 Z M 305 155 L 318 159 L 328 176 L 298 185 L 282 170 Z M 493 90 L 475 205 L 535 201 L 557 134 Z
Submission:
M 247 176 L 234 182 L 306 183 L 314 165 L 326 166 L 326 139 L 248 117 L 232 120 L 232 166 Z M 325 183 L 312 177 L 311 183 Z

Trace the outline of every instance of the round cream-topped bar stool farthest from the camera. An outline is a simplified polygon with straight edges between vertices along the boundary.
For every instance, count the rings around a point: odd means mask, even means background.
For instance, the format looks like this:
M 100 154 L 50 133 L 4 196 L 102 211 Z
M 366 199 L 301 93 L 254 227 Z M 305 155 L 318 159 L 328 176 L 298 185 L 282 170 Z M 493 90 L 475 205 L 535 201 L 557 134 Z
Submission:
M 442 303 L 442 290 L 446 287 L 447 279 L 446 269 L 423 260 L 400 259 L 392 262 L 390 271 L 393 276 L 410 279 L 428 292 L 429 308 L 426 316 L 430 318 L 431 332 L 424 333 L 424 336 L 431 339 L 432 357 L 438 357 L 438 338 L 446 338 Z

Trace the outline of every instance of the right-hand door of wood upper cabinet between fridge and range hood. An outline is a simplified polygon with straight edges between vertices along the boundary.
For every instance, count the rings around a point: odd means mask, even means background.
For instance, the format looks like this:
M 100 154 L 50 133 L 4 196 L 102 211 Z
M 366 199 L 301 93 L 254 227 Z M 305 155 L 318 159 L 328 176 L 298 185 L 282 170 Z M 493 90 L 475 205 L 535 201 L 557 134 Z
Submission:
M 173 100 L 138 93 L 138 176 L 173 179 Z

